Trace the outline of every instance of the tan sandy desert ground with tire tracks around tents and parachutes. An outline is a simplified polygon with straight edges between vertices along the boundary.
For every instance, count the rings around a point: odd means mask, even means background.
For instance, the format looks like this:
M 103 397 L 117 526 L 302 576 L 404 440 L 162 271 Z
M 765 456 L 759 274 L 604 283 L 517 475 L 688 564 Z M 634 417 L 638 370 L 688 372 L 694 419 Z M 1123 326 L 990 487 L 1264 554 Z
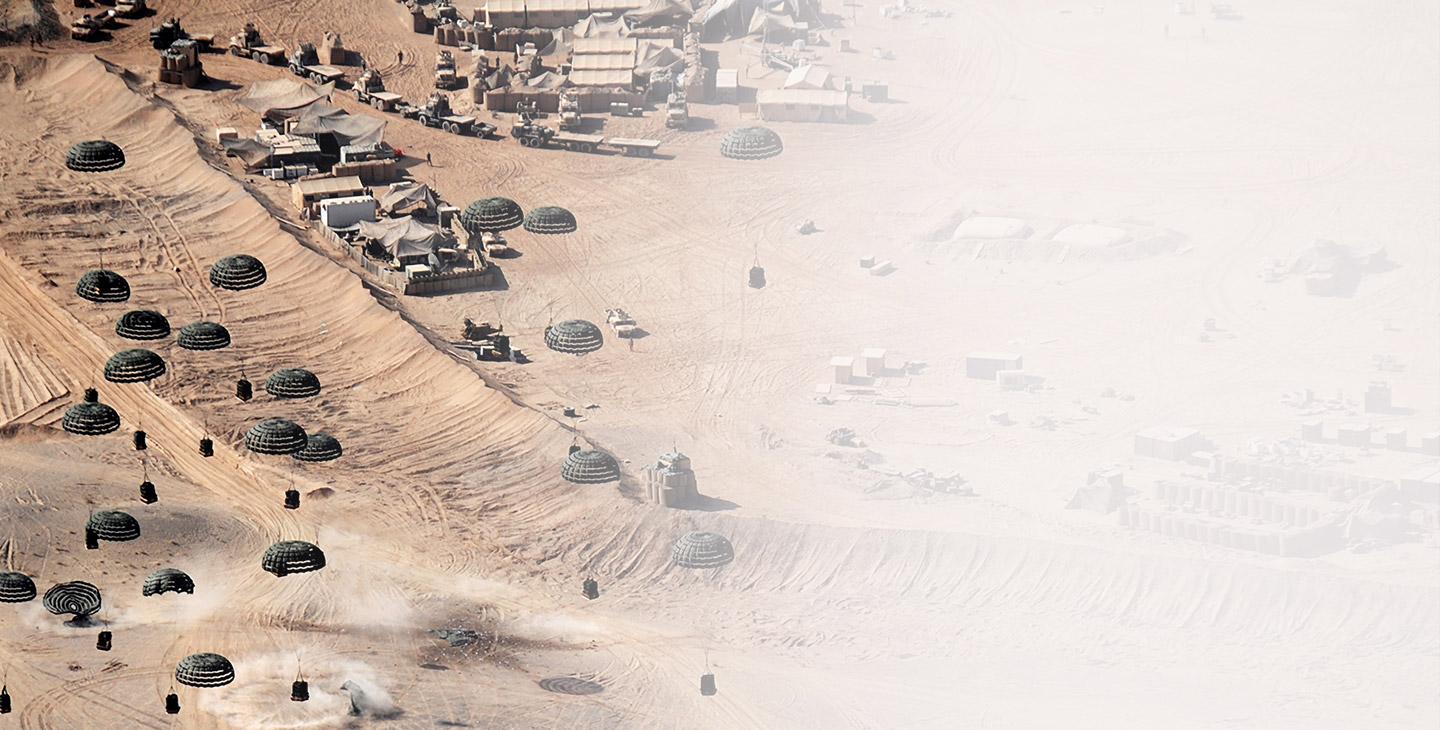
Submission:
M 569 236 L 513 232 L 521 256 L 503 262 L 501 291 L 399 301 L 300 227 L 284 187 L 243 179 L 206 138 L 253 130 L 238 89 L 285 71 L 207 56 L 222 88 L 154 88 L 148 20 L 102 46 L 6 52 L 0 539 L 42 592 L 96 583 L 115 649 L 95 652 L 95 628 L 63 626 L 37 602 L 0 610 L 16 698 L 0 727 L 338 727 L 353 721 L 347 680 L 387 694 L 402 714 L 376 724 L 395 727 L 1440 723 L 1433 534 L 1274 559 L 1061 508 L 1096 468 L 1116 465 L 1142 490 L 1178 475 L 1133 456 L 1143 428 L 1197 428 L 1227 454 L 1293 436 L 1305 416 L 1279 402 L 1289 390 L 1355 399 L 1382 377 L 1411 412 L 1358 418 L 1411 438 L 1437 429 L 1436 9 L 1280 3 L 1217 22 L 1168 3 L 945 7 L 953 17 L 861 9 L 831 37 L 896 58 L 819 53 L 837 73 L 888 82 L 894 101 L 857 99 L 851 125 L 776 124 L 786 151 L 766 163 L 719 156 L 720 137 L 749 124 L 729 107 L 696 107 L 688 132 L 657 115 L 608 122 L 608 134 L 662 138 L 660 160 L 531 151 L 392 118 L 387 140 L 429 153 L 436 164 L 412 174 L 448 199 L 504 194 L 580 220 Z M 435 48 L 408 32 L 400 6 L 338 10 L 160 6 L 194 32 L 253 19 L 287 46 L 337 30 L 419 96 Z M 779 82 L 739 46 L 720 53 L 744 84 Z M 63 168 L 71 143 L 98 137 L 125 148 L 122 170 Z M 950 240 L 976 212 L 1034 232 Z M 821 232 L 798 235 L 801 219 Z M 1149 245 L 1054 243 L 1071 223 Z M 1341 298 L 1261 281 L 1266 259 L 1316 238 L 1385 246 L 1397 265 Z M 209 263 L 238 252 L 264 259 L 269 282 L 210 288 Z M 896 271 L 865 275 L 865 255 Z M 744 285 L 756 259 L 769 279 L 759 291 Z M 130 278 L 128 305 L 73 295 L 101 261 Z M 114 320 L 135 307 L 174 327 L 222 321 L 236 344 L 161 344 L 168 376 L 104 383 L 101 366 L 124 347 Z M 649 335 L 583 359 L 544 350 L 546 324 L 603 323 L 609 307 Z M 438 347 L 464 317 L 504 323 L 534 361 L 480 366 Z M 1207 318 L 1221 334 L 1200 341 Z M 816 405 L 829 359 L 865 347 L 927 363 L 876 384 L 913 405 Z M 978 350 L 1022 353 L 1048 387 L 966 379 L 963 356 Z M 1374 354 L 1405 369 L 1380 374 Z M 324 393 L 230 397 L 235 377 L 289 366 L 314 370 Z M 86 386 L 121 412 L 120 433 L 58 431 Z M 1107 387 L 1133 399 L 1103 399 Z M 572 422 L 567 405 L 599 407 Z M 996 426 L 994 410 L 1017 423 Z M 249 454 L 239 442 L 266 416 L 334 433 L 346 456 Z M 1031 428 L 1037 418 L 1057 428 Z M 840 426 L 868 443 L 874 468 L 825 442 Z M 144 465 L 132 428 L 151 436 Z M 626 462 L 619 492 L 559 478 L 576 428 Z M 217 441 L 210 459 L 194 448 L 204 433 Z M 634 497 L 639 468 L 672 445 L 716 510 Z M 1348 458 L 1385 475 L 1434 464 Z M 877 484 L 913 468 L 959 472 L 976 495 Z M 154 505 L 135 500 L 143 471 Z M 311 494 L 298 511 L 281 508 L 291 485 Z M 84 550 L 86 514 L 112 507 L 140 518 L 143 539 Z M 670 564 L 688 528 L 730 537 L 734 563 Z M 281 539 L 318 541 L 330 567 L 261 572 Z M 140 582 L 164 566 L 193 574 L 197 593 L 143 599 Z M 585 576 L 602 600 L 579 596 Z M 425 634 L 445 626 L 484 641 L 456 649 Z M 186 710 L 170 718 L 170 672 L 196 651 L 226 654 L 239 680 L 183 690 Z M 696 691 L 707 662 L 714 697 Z M 297 670 L 308 704 L 285 701 Z M 549 693 L 539 681 L 552 677 L 602 691 Z

